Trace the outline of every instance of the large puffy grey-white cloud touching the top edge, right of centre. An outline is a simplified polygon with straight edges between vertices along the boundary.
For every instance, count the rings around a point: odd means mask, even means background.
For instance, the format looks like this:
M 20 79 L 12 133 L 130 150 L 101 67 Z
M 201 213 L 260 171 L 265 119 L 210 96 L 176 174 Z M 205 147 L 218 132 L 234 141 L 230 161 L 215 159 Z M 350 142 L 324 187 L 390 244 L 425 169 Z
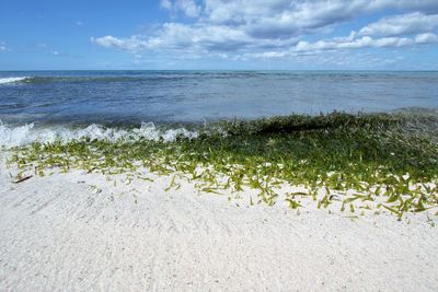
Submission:
M 203 20 L 240 26 L 261 38 L 288 37 L 322 28 L 383 9 L 430 12 L 438 1 L 427 0 L 205 0 Z

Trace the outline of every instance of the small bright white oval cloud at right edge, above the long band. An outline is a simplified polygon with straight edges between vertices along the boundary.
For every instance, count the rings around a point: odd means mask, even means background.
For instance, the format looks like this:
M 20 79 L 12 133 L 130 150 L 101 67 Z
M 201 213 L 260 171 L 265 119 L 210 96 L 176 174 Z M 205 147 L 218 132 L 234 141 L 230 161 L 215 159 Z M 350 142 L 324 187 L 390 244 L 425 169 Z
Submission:
M 399 36 L 431 32 L 438 26 L 438 14 L 425 15 L 420 12 L 383 17 L 360 30 L 360 35 Z

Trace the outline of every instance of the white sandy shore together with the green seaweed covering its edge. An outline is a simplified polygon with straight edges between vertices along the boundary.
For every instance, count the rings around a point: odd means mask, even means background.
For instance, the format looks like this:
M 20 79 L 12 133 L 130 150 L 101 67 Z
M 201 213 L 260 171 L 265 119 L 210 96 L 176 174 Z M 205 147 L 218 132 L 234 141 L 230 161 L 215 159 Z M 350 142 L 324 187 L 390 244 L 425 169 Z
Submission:
M 402 121 L 3 148 L 0 290 L 436 291 L 436 120 Z

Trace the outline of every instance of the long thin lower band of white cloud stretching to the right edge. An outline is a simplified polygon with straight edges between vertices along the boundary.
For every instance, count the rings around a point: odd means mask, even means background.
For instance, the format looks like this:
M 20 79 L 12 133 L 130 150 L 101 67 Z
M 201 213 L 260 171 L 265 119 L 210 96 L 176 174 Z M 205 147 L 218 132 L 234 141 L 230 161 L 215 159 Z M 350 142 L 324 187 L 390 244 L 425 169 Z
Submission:
M 173 27 L 173 26 L 171 26 Z M 211 36 L 215 33 L 215 30 L 218 27 L 210 27 L 210 30 L 199 32 L 191 31 L 191 27 L 184 26 L 180 27 L 182 30 L 187 30 L 186 34 L 175 34 L 178 37 L 169 38 L 166 43 L 158 42 L 158 39 L 145 40 L 138 37 L 131 37 L 128 39 L 118 39 L 113 36 L 105 36 L 102 38 L 93 39 L 94 43 L 100 44 L 105 47 L 114 47 L 119 49 L 125 49 L 129 51 L 141 51 L 143 49 L 178 49 L 184 48 L 185 51 L 192 52 L 214 52 L 217 51 L 216 56 L 228 56 L 227 54 L 219 52 L 219 50 L 227 50 L 223 44 L 228 44 L 231 48 L 239 47 L 239 42 L 243 43 L 243 40 L 238 40 L 239 35 L 235 35 L 233 38 L 231 35 L 228 35 L 228 40 L 224 40 L 223 37 L 226 34 L 220 32 L 217 34 L 217 38 L 211 38 L 207 36 Z M 210 33 L 209 33 L 210 32 Z M 175 33 L 175 32 L 174 32 Z M 193 38 L 185 38 L 184 35 L 193 35 Z M 196 35 L 197 34 L 197 35 Z M 180 38 L 181 37 L 181 38 Z M 216 43 L 215 43 L 216 42 Z M 361 36 L 356 37 L 356 34 L 351 32 L 349 36 L 346 37 L 334 37 L 332 39 L 316 40 L 313 43 L 310 42 L 298 42 L 296 44 L 283 45 L 283 46 L 272 46 L 270 49 L 267 45 L 258 45 L 252 46 L 251 49 L 247 49 L 250 45 L 246 46 L 246 49 L 241 49 L 238 54 L 237 58 L 253 58 L 253 59 L 269 59 L 269 58 L 284 58 L 284 57 L 292 57 L 302 54 L 314 54 L 321 51 L 341 51 L 341 50 L 351 50 L 351 49 L 361 49 L 361 48 L 385 48 L 385 47 L 406 47 L 413 45 L 424 45 L 424 44 L 437 44 L 438 36 L 431 33 L 418 34 L 415 37 L 379 37 L 372 38 L 370 36 Z M 247 44 L 251 44 L 251 40 L 247 40 Z M 233 52 L 237 52 L 235 50 Z M 196 55 L 192 56 L 195 57 Z M 185 57 L 185 56 L 181 56 Z

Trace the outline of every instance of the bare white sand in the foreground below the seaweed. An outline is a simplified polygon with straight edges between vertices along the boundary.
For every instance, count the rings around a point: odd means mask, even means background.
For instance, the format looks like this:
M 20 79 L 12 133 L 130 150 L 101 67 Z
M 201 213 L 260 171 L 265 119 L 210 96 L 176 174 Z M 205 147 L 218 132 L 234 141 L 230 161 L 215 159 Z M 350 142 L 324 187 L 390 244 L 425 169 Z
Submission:
M 0 291 L 438 290 L 438 226 L 425 213 L 350 220 L 188 183 L 165 192 L 170 177 L 114 187 L 73 171 L 12 184 L 10 171 Z

